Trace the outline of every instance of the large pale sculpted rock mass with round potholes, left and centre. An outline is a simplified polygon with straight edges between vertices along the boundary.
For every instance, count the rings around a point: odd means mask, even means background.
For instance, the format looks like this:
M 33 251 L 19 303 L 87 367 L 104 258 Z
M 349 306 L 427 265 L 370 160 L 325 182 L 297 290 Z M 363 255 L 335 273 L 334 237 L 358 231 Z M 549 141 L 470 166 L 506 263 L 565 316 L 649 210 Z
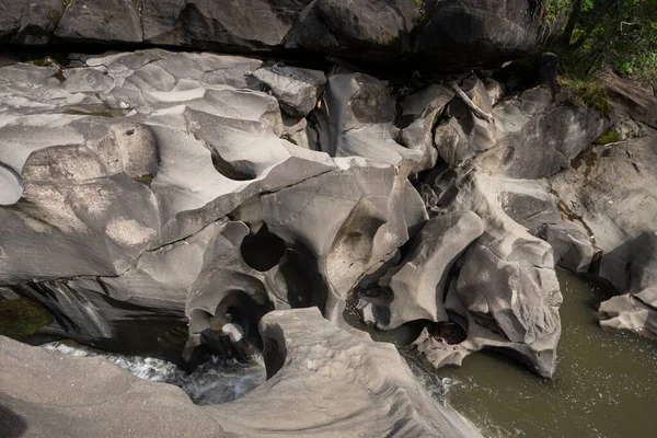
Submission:
M 76 65 L 0 68 L 0 285 L 48 307 L 50 330 L 140 348 L 129 331 L 157 321 L 149 351 L 171 358 L 186 316 L 192 358 L 212 327 L 257 344 L 274 308 L 344 323 L 351 288 L 427 219 L 407 176 L 429 151 L 394 141 L 374 78 L 330 77 L 350 93 L 322 110 L 336 120 L 325 153 L 281 138 L 280 112 L 313 110 L 323 72 L 270 69 L 316 79 L 295 103 L 260 91 L 250 58 L 153 49 Z

